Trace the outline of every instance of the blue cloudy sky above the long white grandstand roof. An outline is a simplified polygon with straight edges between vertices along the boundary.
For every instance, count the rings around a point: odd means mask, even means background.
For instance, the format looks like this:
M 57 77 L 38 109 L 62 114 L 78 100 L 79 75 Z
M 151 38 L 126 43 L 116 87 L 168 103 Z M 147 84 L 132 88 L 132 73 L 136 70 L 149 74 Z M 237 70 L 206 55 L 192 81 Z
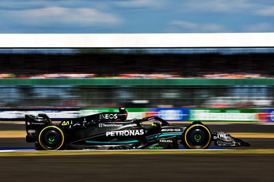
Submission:
M 0 33 L 274 32 L 273 0 L 1 0 Z

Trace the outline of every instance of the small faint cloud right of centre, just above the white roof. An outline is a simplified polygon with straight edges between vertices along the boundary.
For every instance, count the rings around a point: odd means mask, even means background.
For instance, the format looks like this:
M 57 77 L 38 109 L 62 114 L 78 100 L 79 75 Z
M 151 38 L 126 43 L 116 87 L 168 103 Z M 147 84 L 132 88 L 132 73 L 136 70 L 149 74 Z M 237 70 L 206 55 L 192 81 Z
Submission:
M 187 21 L 172 21 L 170 25 L 173 27 L 175 31 L 181 32 L 223 32 L 225 28 L 223 25 L 219 25 L 216 23 L 190 23 Z

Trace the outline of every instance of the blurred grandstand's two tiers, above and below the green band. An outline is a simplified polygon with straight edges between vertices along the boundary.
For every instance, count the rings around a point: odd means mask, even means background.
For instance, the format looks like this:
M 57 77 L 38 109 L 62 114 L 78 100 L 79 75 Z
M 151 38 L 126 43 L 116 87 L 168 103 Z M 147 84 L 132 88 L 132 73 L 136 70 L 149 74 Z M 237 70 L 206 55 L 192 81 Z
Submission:
M 266 79 L 273 48 L 0 49 L 13 79 Z M 5 86 L 1 108 L 273 107 L 273 86 Z

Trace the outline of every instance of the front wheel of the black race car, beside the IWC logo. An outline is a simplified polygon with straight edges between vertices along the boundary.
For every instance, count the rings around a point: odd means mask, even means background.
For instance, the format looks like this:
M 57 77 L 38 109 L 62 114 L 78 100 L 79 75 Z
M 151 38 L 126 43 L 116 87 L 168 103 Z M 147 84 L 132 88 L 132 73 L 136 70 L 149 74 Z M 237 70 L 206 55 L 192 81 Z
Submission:
M 190 125 L 184 132 L 183 144 L 186 148 L 205 149 L 210 146 L 211 133 L 204 125 Z

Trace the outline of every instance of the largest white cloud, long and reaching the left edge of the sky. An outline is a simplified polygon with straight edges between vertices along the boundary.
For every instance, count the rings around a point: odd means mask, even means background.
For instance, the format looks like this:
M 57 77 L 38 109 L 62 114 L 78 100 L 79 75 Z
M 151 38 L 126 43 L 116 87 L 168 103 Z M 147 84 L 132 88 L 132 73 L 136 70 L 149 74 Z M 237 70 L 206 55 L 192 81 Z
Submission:
M 121 18 L 115 14 L 101 12 L 92 8 L 37 8 L 29 10 L 2 10 L 1 18 L 24 25 L 75 25 L 90 27 L 93 25 L 117 25 Z

